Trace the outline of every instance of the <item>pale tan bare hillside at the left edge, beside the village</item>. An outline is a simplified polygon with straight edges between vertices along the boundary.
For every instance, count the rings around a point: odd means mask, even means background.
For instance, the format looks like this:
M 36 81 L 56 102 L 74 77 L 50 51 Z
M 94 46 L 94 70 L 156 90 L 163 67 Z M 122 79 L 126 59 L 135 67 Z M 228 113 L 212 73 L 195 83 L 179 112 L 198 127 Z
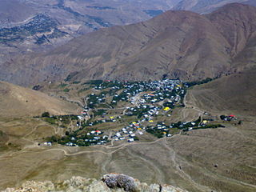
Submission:
M 50 114 L 76 114 L 78 106 L 51 98 L 35 90 L 0 82 L 0 116 L 27 117 Z

